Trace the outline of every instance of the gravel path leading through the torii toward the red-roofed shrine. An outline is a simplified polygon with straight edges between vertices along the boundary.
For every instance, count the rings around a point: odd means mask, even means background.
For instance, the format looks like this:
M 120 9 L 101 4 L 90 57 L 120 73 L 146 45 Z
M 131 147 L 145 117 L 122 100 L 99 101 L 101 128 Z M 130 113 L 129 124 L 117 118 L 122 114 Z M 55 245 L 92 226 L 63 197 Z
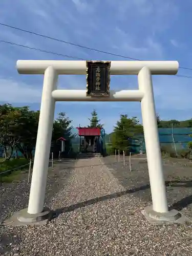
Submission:
M 137 190 L 145 189 L 133 189 L 134 185 L 123 183 L 120 171 L 115 175 L 118 168 L 114 171 L 114 166 L 102 161 L 99 158 L 78 160 L 76 168 L 70 169 L 58 164 L 54 172 L 49 173 L 46 199 L 57 218 L 41 227 L 1 226 L 1 255 L 191 255 L 191 225 L 149 224 L 141 209 L 150 202 L 135 196 Z M 25 181 L 22 184 L 26 186 Z M 8 198 L 9 193 L 3 194 L 3 198 L 5 195 Z M 20 200 L 26 197 L 22 192 Z M 18 203 L 18 207 L 16 201 L 11 209 L 25 206 Z M 5 208 L 3 216 L 7 217 Z

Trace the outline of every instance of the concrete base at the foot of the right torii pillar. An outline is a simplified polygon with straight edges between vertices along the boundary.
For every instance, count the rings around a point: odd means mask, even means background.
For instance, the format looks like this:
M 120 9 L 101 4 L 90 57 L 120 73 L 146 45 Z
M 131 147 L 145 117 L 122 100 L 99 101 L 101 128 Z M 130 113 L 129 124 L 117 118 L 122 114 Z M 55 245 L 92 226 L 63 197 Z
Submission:
M 181 214 L 181 212 L 173 209 L 168 212 L 156 212 L 153 210 L 153 206 L 147 206 L 141 211 L 146 220 L 152 224 L 164 225 L 164 224 L 187 224 L 191 220 Z

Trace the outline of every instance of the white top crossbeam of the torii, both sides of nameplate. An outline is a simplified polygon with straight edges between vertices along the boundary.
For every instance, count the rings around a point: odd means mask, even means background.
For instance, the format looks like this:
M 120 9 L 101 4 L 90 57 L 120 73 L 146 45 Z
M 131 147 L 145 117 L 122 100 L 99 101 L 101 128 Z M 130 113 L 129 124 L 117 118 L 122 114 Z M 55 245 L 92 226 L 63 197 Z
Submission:
M 53 67 L 58 75 L 86 75 L 86 60 L 17 60 L 19 74 L 44 74 L 48 67 Z M 174 60 L 130 61 L 112 60 L 111 75 L 138 75 L 147 67 L 152 75 L 175 75 L 179 63 Z

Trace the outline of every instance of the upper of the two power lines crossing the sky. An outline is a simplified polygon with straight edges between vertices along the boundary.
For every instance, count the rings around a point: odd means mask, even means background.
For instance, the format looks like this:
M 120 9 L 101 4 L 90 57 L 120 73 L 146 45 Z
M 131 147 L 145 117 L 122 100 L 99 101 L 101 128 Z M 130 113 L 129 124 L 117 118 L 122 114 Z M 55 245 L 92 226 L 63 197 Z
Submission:
M 116 56 L 116 57 L 121 57 L 121 58 L 126 58 L 126 59 L 132 59 L 132 60 L 140 60 L 140 61 L 141 61 L 141 59 L 136 59 L 136 58 L 132 58 L 132 57 L 120 55 L 120 54 L 115 54 L 115 53 L 112 53 L 112 52 L 101 51 L 101 50 L 99 50 L 99 49 L 95 49 L 95 48 L 91 48 L 91 47 L 87 47 L 87 46 L 78 45 L 78 44 L 75 44 L 75 43 L 73 43 L 73 42 L 68 42 L 68 41 L 61 40 L 61 39 L 58 39 L 58 38 L 54 38 L 54 37 L 51 37 L 51 36 L 42 35 L 42 34 L 35 33 L 35 32 L 32 32 L 32 31 L 29 31 L 29 30 L 25 30 L 25 29 L 13 27 L 13 26 L 10 26 L 10 25 L 8 25 L 8 24 L 0 23 L 0 25 L 1 25 L 1 26 L 4 26 L 4 27 L 16 29 L 16 30 L 19 30 L 19 31 L 23 31 L 23 32 L 25 32 L 25 33 L 29 33 L 29 34 L 32 34 L 32 35 L 37 35 L 37 36 L 40 36 L 40 37 L 44 37 L 44 38 L 47 38 L 47 39 L 51 39 L 51 40 L 54 40 L 54 41 L 63 42 L 64 44 L 68 44 L 68 45 L 72 45 L 72 46 L 84 48 L 84 49 L 87 49 L 87 50 L 91 50 L 91 51 L 95 51 L 95 52 L 100 52 L 100 53 L 105 53 L 105 54 L 113 55 L 113 56 Z M 180 68 L 180 69 L 185 69 L 185 70 L 192 70 L 192 68 L 186 68 L 186 67 L 179 67 L 179 68 Z

